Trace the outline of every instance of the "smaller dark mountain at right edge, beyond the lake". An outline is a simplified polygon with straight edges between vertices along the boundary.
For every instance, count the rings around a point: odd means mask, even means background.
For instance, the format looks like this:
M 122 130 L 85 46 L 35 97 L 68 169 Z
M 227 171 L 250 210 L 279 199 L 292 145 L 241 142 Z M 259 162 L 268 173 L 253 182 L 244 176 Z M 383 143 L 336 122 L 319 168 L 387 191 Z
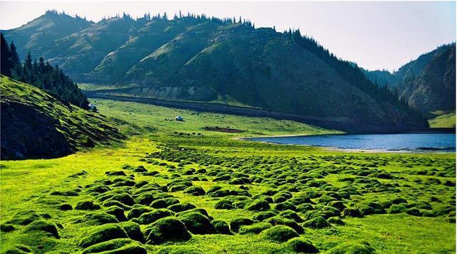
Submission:
M 455 111 L 455 43 L 440 46 L 423 54 L 394 73 L 366 71 L 366 74 L 378 85 L 387 84 L 400 98 L 428 118 Z

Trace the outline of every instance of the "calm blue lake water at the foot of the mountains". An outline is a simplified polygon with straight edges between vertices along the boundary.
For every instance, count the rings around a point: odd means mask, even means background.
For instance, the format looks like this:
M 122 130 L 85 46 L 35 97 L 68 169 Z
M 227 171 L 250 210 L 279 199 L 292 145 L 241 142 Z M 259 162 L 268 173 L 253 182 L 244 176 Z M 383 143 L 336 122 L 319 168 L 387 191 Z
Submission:
M 289 145 L 388 151 L 456 151 L 454 133 L 401 133 L 246 138 Z

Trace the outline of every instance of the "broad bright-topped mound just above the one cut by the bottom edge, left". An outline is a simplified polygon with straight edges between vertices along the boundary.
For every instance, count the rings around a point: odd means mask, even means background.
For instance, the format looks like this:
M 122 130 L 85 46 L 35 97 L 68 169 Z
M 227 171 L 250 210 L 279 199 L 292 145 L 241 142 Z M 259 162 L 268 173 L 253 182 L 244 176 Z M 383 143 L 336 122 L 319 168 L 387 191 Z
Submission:
M 95 228 L 92 233 L 84 237 L 79 242 L 79 247 L 87 248 L 97 243 L 106 242 L 116 238 L 128 238 L 127 233 L 120 225 L 117 224 L 106 224 Z

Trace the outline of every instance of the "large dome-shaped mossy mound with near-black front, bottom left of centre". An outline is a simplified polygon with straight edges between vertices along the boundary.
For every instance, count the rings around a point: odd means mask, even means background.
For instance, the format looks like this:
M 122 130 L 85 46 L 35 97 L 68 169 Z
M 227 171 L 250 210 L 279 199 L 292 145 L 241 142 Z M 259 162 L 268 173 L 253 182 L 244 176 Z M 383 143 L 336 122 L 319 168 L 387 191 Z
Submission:
M 176 218 L 161 218 L 146 228 L 146 243 L 161 244 L 167 241 L 184 241 L 191 238 L 186 225 Z

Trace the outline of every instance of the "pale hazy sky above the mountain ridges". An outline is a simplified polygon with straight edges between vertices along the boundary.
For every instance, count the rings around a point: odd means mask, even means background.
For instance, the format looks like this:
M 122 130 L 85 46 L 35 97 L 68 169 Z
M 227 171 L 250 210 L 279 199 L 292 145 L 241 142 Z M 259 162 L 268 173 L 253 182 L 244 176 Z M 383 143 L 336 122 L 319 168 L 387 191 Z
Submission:
M 44 14 L 65 11 L 99 21 L 116 13 L 143 16 L 179 10 L 242 16 L 256 27 L 298 28 L 336 56 L 368 69 L 396 69 L 441 44 L 456 41 L 453 1 L 1 1 L 0 28 L 12 29 Z

